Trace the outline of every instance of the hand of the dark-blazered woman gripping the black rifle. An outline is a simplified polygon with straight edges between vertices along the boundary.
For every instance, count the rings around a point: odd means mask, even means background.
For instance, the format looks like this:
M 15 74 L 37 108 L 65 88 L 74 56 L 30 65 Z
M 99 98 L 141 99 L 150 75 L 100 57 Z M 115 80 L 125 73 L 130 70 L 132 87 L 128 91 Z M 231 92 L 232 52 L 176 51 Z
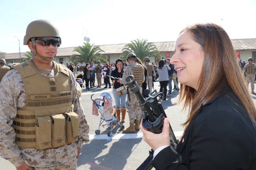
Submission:
M 163 131 L 160 134 L 154 134 L 144 128 L 142 126 L 142 121 L 140 121 L 139 127 L 143 132 L 143 139 L 154 151 L 161 146 L 170 145 L 170 127 L 168 118 L 164 119 Z

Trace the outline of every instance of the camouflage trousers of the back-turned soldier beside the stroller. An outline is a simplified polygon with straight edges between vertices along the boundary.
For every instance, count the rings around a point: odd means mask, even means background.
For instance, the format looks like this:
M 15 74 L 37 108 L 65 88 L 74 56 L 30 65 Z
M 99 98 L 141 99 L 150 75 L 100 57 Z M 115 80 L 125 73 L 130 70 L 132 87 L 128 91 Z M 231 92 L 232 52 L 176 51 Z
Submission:
M 142 87 L 139 87 L 140 93 L 142 93 Z M 129 95 L 130 100 L 127 95 L 127 103 L 128 103 L 128 115 L 129 115 L 129 121 L 134 122 L 136 120 L 140 120 L 142 115 L 142 109 L 139 106 L 139 101 L 135 94 L 131 93 L 131 90 L 129 89 Z

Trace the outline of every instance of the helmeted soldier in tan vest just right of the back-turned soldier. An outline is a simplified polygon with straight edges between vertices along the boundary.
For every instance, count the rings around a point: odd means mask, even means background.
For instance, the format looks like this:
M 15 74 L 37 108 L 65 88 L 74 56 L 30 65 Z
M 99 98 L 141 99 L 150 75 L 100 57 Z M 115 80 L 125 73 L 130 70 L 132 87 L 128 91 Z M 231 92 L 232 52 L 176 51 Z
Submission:
M 147 85 L 148 89 L 150 89 L 150 93 L 152 92 L 152 87 L 153 87 L 153 80 L 155 81 L 156 78 L 156 72 L 154 71 L 154 66 L 153 64 L 150 64 L 150 59 L 149 57 L 144 58 L 144 63 L 148 71 L 148 78 L 147 78 Z

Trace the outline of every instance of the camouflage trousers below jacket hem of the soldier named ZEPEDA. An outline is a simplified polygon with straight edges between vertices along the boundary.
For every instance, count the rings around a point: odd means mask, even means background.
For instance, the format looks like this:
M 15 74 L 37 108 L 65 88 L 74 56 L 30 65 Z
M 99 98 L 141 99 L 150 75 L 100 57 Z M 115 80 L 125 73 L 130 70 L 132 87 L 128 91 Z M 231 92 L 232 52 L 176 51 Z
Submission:
M 36 170 L 76 170 L 77 169 L 77 158 L 70 159 L 64 164 L 56 165 L 53 167 L 36 168 Z

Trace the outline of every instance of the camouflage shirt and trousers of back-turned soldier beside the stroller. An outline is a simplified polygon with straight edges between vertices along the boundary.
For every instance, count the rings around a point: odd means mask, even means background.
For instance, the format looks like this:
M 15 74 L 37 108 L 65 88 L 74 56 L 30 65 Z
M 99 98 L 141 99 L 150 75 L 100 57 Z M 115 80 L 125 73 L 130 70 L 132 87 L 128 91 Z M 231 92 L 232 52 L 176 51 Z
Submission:
M 131 65 L 138 65 L 138 63 L 133 62 Z M 125 78 L 129 75 L 133 75 L 133 69 L 132 69 L 131 65 L 128 65 L 128 66 L 125 67 L 123 77 L 120 80 L 120 83 L 126 84 L 125 81 L 124 81 Z M 143 68 L 142 76 L 143 76 L 142 77 L 142 82 L 144 82 L 145 81 L 144 68 Z M 142 87 L 141 86 L 139 87 L 139 91 L 140 91 L 140 93 L 142 93 Z M 129 100 L 129 95 L 130 95 L 130 100 Z M 139 101 L 138 101 L 137 97 L 135 96 L 135 94 L 133 94 L 131 92 L 130 89 L 129 89 L 129 95 L 127 95 L 129 121 L 134 122 L 135 119 L 140 120 L 141 114 L 142 114 L 142 109 L 139 106 Z

